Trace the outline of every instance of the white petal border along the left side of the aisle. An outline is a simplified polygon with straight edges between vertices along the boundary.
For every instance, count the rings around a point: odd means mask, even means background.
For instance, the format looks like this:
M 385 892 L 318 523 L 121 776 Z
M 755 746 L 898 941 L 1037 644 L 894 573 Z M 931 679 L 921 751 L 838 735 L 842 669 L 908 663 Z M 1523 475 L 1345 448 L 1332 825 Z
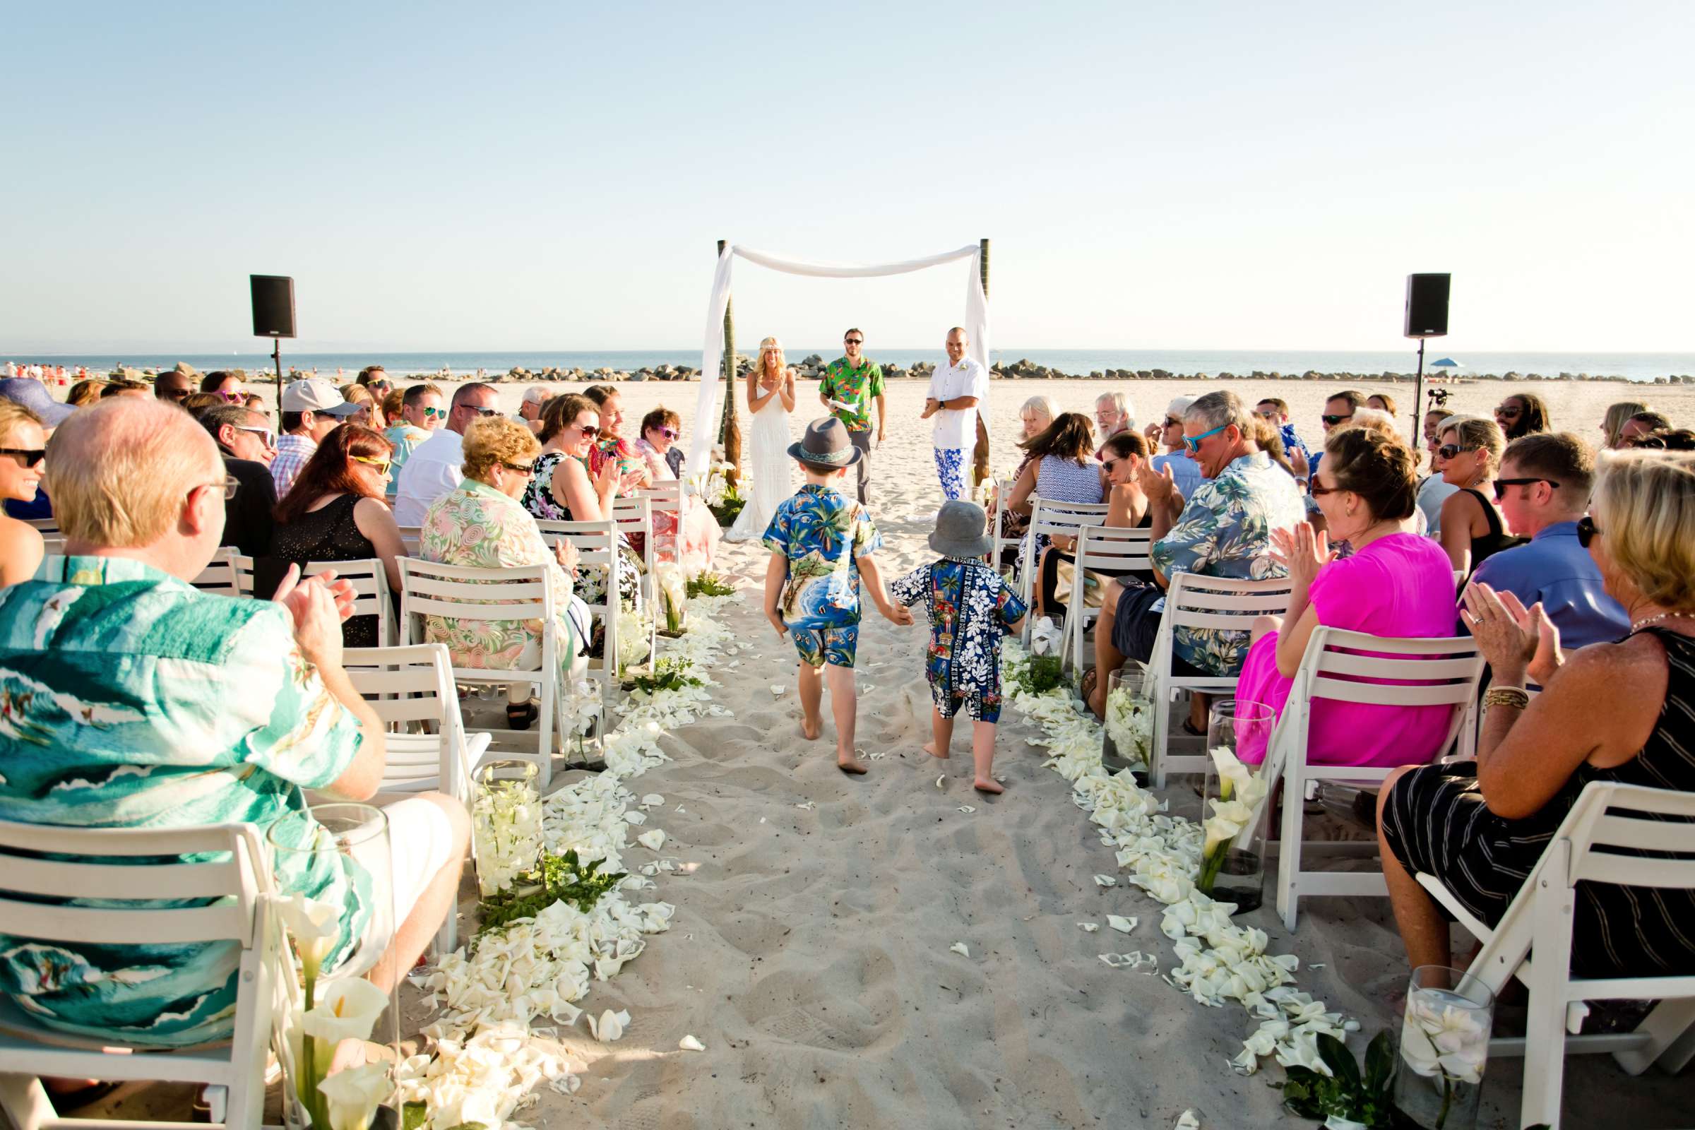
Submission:
M 627 867 L 631 827 L 647 822 L 647 810 L 664 798 L 636 796 L 624 783 L 668 761 L 659 739 L 673 727 L 709 715 L 729 715 L 712 701 L 710 669 L 732 634 L 719 620 L 732 596 L 693 596 L 688 601 L 688 634 L 661 639 L 666 661 L 681 664 L 700 686 L 678 686 L 654 693 L 632 691 L 619 708 L 619 723 L 605 739 L 603 773 L 558 789 L 542 801 L 542 840 L 553 854 L 576 850 L 581 862 L 603 861 L 602 871 L 631 871 L 619 889 L 602 896 L 592 911 L 558 901 L 534 918 L 480 935 L 473 945 L 447 956 L 414 984 L 429 991 L 425 1005 L 441 1010 L 424 1028 L 432 1042 L 429 1054 L 408 1057 L 400 1066 L 400 1098 L 427 1105 L 432 1130 L 481 1123 L 490 1130 L 522 1128 L 514 1115 L 536 1103 L 541 1084 L 559 1093 L 576 1091 L 580 1081 L 563 1054 L 547 1050 L 531 1037 L 558 1035 L 559 1025 L 586 1020 L 600 1042 L 617 1040 L 631 1025 L 627 1011 L 603 1010 L 583 1016 L 578 1008 L 593 981 L 615 976 L 641 956 L 647 935 L 671 925 L 670 903 L 632 903 L 625 895 L 653 889 L 651 874 L 673 871 L 673 861 Z M 637 837 L 659 850 L 663 828 Z M 664 864 L 671 864 L 664 867 Z M 685 1037 L 690 1049 L 693 1037 Z M 698 1050 L 695 1042 L 693 1050 Z

